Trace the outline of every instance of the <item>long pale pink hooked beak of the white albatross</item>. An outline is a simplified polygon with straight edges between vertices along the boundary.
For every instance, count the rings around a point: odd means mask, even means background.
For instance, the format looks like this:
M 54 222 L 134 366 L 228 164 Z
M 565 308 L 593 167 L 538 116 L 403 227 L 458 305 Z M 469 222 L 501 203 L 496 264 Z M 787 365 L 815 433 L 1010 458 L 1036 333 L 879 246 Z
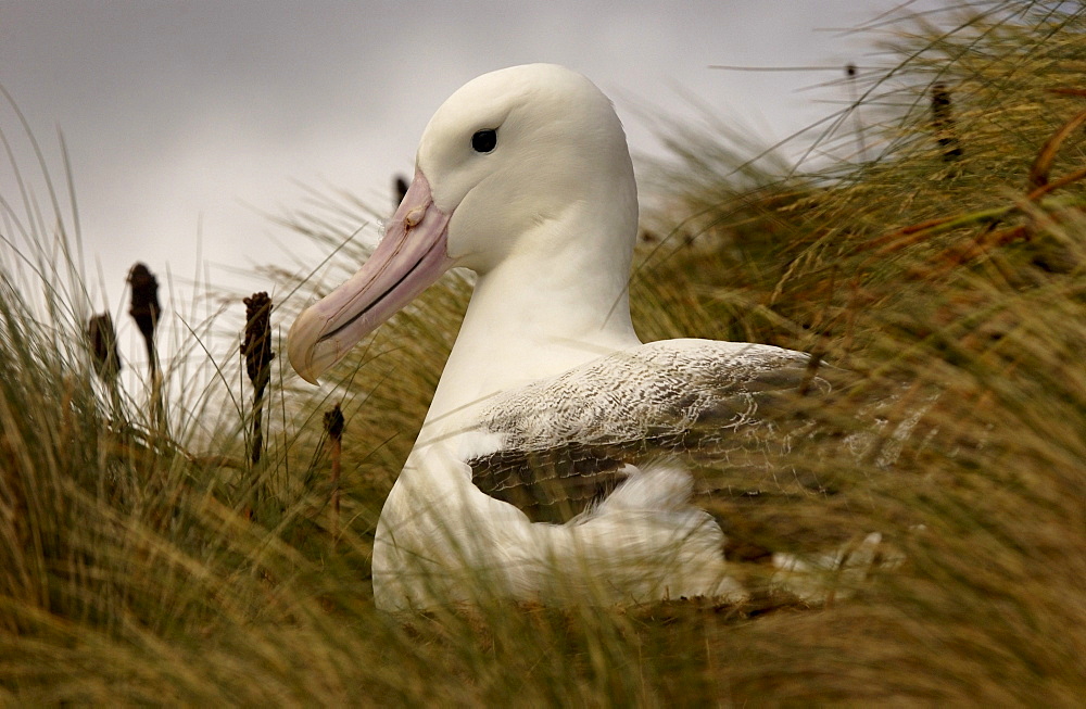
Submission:
M 359 340 L 453 266 L 446 252 L 450 216 L 434 205 L 430 183 L 416 172 L 369 259 L 290 328 L 287 355 L 302 379 L 317 383 Z

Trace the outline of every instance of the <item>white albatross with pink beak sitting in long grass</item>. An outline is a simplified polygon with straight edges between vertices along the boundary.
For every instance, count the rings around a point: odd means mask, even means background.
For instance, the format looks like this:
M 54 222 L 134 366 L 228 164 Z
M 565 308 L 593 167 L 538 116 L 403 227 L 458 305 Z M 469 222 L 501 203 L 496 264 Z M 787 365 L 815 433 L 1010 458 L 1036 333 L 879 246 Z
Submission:
M 636 233 L 626 135 L 585 77 L 516 66 L 438 109 L 372 256 L 289 335 L 316 382 L 449 268 L 478 275 L 378 524 L 380 608 L 744 594 L 721 527 L 691 502 L 694 477 L 645 459 L 645 441 L 681 448 L 712 420 L 725 452 L 758 457 L 778 434 L 759 407 L 828 384 L 774 346 L 642 344 L 627 290 Z

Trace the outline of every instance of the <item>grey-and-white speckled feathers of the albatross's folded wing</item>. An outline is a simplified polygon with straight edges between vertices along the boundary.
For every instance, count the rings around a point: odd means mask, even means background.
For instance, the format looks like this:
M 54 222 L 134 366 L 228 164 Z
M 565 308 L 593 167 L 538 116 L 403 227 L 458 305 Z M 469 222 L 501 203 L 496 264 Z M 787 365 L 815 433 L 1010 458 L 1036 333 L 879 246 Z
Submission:
M 662 456 L 694 472 L 707 503 L 824 493 L 784 461 L 818 428 L 829 380 L 845 377 L 767 345 L 652 343 L 496 397 L 480 428 L 503 446 L 469 464 L 480 490 L 558 523 L 609 494 L 628 465 Z

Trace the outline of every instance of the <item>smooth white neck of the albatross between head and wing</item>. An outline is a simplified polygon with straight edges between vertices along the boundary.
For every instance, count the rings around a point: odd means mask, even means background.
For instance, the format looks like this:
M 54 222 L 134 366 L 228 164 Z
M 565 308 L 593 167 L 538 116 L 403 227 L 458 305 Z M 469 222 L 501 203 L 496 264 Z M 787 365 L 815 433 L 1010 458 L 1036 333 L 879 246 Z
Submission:
M 538 248 L 514 249 L 479 275 L 427 415 L 430 432 L 455 428 L 497 392 L 640 344 L 628 292 L 636 211 L 631 219 L 628 203 L 613 202 L 619 215 L 608 219 L 599 204 L 571 205 L 536 227 L 544 232 L 518 239 Z

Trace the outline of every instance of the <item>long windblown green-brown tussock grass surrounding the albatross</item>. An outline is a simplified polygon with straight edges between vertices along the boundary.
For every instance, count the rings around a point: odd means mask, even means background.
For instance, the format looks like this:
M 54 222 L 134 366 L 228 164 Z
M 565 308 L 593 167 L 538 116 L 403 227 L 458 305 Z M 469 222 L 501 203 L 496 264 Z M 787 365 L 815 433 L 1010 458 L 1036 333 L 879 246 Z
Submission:
M 331 394 L 285 385 L 277 356 L 254 467 L 242 453 L 251 414 L 211 404 L 237 392 L 172 410 L 169 431 L 111 416 L 83 344 L 78 276 L 39 258 L 39 280 L 5 267 L 0 293 L 0 701 L 1081 701 L 1086 192 L 1051 186 L 1086 166 L 1086 142 L 1081 126 L 1048 141 L 1086 111 L 1086 16 L 1068 3 L 978 7 L 950 33 L 919 17 L 893 25 L 887 55 L 900 63 L 862 77 L 877 160 L 737 182 L 734 156 L 698 142 L 712 137 L 675 140 L 669 207 L 646 215 L 661 239 L 632 282 L 645 339 L 770 342 L 874 387 L 944 392 L 931 432 L 891 472 L 826 464 L 868 485 L 851 521 L 893 539 L 902 568 L 824 608 L 379 615 L 372 530 L 468 284 L 454 275 L 431 289 L 337 369 Z M 957 155 L 939 142 L 946 124 L 933 125 L 935 84 Z M 294 223 L 329 244 L 348 236 L 332 218 Z M 363 257 L 350 245 L 341 256 L 343 269 Z M 231 347 L 210 389 L 240 381 Z M 320 421 L 340 401 L 333 548 Z M 257 476 L 260 499 L 247 492 Z

